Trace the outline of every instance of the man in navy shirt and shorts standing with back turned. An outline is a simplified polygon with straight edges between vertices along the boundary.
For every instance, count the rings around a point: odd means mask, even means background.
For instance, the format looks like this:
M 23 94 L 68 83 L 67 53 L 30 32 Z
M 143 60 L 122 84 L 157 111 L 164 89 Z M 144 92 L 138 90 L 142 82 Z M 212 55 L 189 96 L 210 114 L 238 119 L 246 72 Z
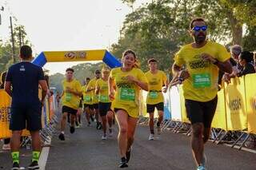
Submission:
M 12 97 L 10 130 L 13 168 L 19 169 L 19 147 L 22 129 L 30 131 L 32 137 L 32 161 L 29 169 L 38 169 L 41 151 L 39 130 L 42 128 L 42 105 L 46 97 L 47 84 L 42 68 L 30 63 L 32 49 L 23 45 L 20 49 L 21 62 L 11 65 L 6 74 L 4 89 Z M 42 101 L 38 98 L 38 85 L 42 88 Z

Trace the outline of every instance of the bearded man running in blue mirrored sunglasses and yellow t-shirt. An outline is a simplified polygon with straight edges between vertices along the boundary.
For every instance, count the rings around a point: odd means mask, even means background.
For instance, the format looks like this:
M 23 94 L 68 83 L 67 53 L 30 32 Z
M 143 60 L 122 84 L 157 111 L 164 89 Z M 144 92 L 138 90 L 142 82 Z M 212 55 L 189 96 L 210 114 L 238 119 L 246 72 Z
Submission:
M 195 18 L 190 22 L 194 42 L 182 46 L 175 54 L 174 76 L 184 80 L 186 114 L 192 125 L 191 146 L 198 170 L 204 170 L 204 144 L 210 136 L 210 126 L 217 106 L 218 69 L 231 73 L 230 53 L 223 45 L 206 39 L 206 22 Z M 182 70 L 182 66 L 186 69 Z

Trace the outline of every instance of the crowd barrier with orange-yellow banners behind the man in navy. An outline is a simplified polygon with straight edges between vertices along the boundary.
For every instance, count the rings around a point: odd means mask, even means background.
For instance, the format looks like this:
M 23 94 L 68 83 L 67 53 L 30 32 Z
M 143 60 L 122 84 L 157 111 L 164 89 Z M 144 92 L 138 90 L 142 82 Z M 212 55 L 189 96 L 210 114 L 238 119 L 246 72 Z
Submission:
M 0 99 L 0 139 L 5 139 L 11 137 L 9 129 L 11 97 L 4 89 L 0 89 Z M 42 107 L 42 131 L 40 132 L 42 141 L 48 140 L 49 136 L 53 134 L 54 129 L 52 125 L 54 125 L 54 122 L 57 122 L 57 117 L 54 114 L 54 101 L 54 96 L 46 97 L 45 105 Z M 24 129 L 22 136 L 30 136 L 30 132 Z

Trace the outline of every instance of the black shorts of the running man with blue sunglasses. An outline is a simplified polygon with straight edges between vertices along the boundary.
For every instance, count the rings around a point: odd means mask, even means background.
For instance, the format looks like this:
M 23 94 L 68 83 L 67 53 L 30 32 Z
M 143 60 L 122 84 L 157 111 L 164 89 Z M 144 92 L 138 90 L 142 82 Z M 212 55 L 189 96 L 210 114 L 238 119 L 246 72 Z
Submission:
M 190 119 L 191 124 L 203 123 L 205 128 L 210 128 L 211 122 L 214 118 L 214 113 L 216 111 L 217 103 L 217 96 L 213 100 L 206 102 L 186 99 L 186 115 Z

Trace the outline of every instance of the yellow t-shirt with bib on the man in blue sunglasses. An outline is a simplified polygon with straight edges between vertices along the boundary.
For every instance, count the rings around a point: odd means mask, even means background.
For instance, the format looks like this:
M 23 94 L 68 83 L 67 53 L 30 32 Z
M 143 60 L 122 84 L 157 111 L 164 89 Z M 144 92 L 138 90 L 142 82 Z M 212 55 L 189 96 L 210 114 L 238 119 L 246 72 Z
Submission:
M 176 53 L 174 64 L 186 65 L 190 77 L 183 82 L 184 97 L 194 101 L 211 101 L 218 92 L 218 66 L 210 61 L 202 61 L 201 54 L 208 53 L 218 61 L 227 61 L 230 53 L 223 45 L 207 42 L 202 48 L 184 45 Z

